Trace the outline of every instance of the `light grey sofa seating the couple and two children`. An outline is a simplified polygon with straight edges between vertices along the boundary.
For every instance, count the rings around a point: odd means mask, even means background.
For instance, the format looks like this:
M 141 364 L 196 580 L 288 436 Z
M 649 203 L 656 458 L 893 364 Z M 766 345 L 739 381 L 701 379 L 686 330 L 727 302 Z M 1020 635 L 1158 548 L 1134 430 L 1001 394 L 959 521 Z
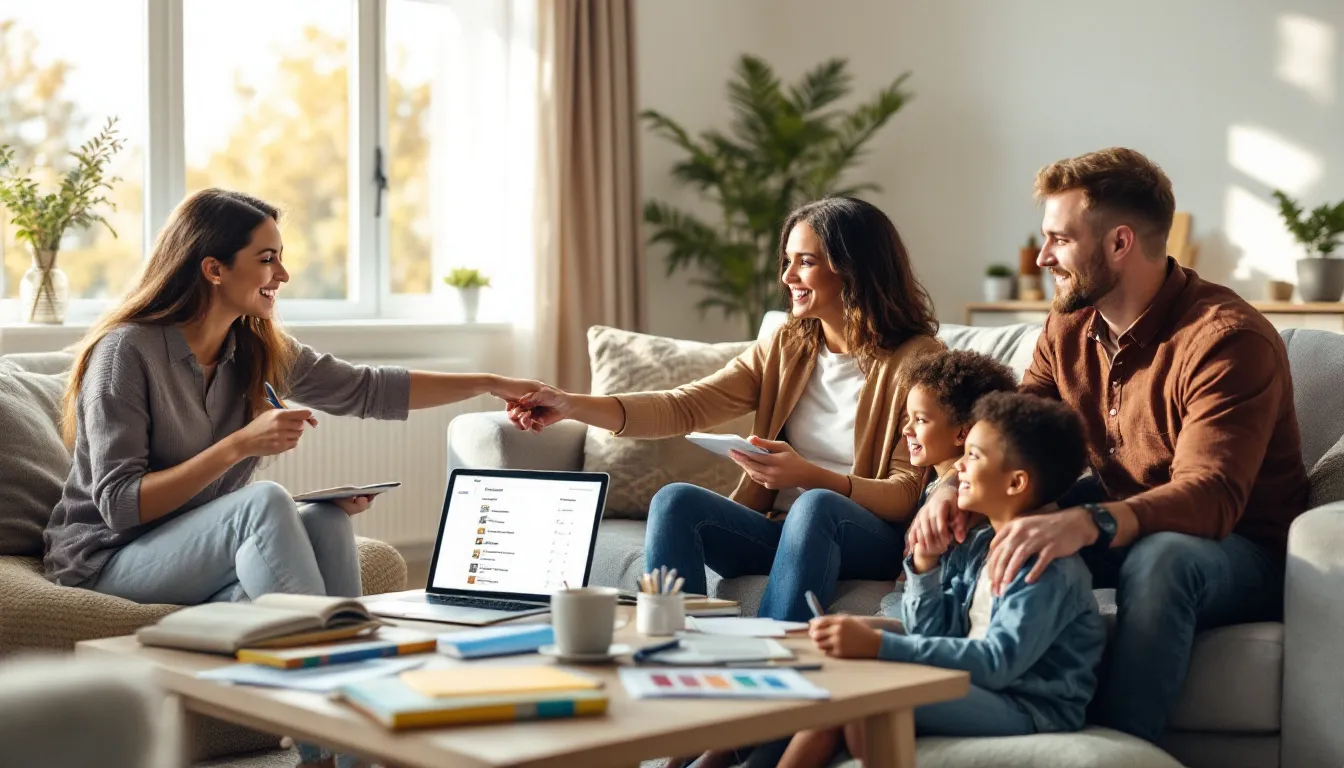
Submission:
M 781 321 L 767 317 L 765 336 Z M 1031 362 L 1039 325 L 943 325 L 956 348 L 995 356 L 1020 375 Z M 1203 632 L 1163 746 L 1196 768 L 1340 768 L 1344 765 L 1344 335 L 1285 331 L 1302 453 L 1312 469 L 1313 507 L 1289 541 L 1286 619 Z M 540 434 L 520 433 L 500 413 L 457 417 L 449 426 L 450 467 L 585 468 L 582 425 L 562 422 Z M 589 468 L 593 468 L 589 463 Z M 644 522 L 606 519 L 598 534 L 593 584 L 634 589 L 644 565 Z M 754 612 L 763 576 L 719 580 L 710 592 Z M 875 581 L 845 581 L 832 611 L 871 613 L 891 590 Z M 1103 612 L 1111 590 L 1099 590 Z M 921 740 L 922 767 L 1171 765 L 1169 757 L 1101 728 L 1079 734 L 1017 738 Z

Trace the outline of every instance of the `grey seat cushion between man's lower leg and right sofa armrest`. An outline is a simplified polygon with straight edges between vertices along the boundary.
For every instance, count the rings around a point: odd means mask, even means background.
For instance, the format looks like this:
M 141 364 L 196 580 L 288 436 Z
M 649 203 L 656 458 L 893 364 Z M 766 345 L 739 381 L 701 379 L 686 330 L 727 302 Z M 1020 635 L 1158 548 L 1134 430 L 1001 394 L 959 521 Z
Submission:
M 1284 625 L 1236 624 L 1200 632 L 1169 728 L 1278 733 Z

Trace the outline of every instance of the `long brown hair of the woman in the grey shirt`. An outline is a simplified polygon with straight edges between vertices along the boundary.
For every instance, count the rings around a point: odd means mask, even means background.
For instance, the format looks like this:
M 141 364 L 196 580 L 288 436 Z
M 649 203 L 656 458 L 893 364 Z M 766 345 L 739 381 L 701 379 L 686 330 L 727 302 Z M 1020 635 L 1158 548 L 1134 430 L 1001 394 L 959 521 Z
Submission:
M 183 325 L 204 317 L 211 293 L 200 269 L 202 261 L 212 256 L 231 268 L 238 252 L 251 242 L 253 230 L 267 218 L 280 222 L 280 210 L 251 195 L 228 190 L 202 190 L 177 206 L 159 231 L 155 253 L 136 286 L 85 336 L 66 386 L 60 424 L 66 445 L 75 443 L 79 387 L 98 342 L 125 323 Z M 243 391 L 249 413 L 255 416 L 266 398 L 265 382 L 271 382 L 280 391 L 288 389 L 285 385 L 296 348 L 271 320 L 243 316 L 234 321 L 233 332 L 234 360 L 246 371 Z

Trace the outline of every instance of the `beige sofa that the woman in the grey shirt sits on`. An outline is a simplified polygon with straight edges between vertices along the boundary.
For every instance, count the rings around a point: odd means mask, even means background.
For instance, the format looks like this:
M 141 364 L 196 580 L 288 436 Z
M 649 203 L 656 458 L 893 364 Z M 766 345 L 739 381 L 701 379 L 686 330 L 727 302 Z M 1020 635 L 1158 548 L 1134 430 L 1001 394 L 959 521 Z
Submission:
M 128 635 L 179 609 L 56 586 L 42 576 L 43 510 L 59 500 L 70 467 L 56 433 L 70 363 L 67 354 L 0 356 L 0 659 L 71 651 L 79 640 Z M 366 594 L 406 588 L 406 561 L 392 546 L 360 538 L 359 562 Z M 207 757 L 277 744 L 274 736 L 208 724 L 194 751 Z

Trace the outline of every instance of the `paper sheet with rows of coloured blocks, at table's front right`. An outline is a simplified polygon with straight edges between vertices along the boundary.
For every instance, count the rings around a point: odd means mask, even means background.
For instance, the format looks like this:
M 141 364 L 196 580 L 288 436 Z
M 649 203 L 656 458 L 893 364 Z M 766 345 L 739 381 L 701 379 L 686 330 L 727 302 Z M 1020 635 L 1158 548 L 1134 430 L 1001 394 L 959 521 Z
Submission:
M 620 675 L 630 698 L 831 698 L 797 670 L 621 667 Z

